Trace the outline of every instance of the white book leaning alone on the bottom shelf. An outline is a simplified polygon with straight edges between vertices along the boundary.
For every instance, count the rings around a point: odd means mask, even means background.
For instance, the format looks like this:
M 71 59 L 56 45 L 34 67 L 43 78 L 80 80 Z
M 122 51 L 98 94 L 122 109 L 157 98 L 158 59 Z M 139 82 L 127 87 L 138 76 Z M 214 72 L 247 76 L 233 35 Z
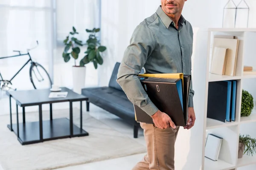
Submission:
M 221 150 L 222 140 L 223 139 L 219 136 L 208 134 L 205 144 L 205 157 L 217 161 Z

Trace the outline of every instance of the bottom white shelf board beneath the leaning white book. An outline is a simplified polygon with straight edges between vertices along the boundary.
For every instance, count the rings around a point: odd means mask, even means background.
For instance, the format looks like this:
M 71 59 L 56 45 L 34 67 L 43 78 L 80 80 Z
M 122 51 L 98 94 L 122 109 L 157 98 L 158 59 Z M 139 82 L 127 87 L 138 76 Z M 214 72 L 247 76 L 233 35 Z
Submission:
M 230 170 L 235 167 L 235 165 L 229 164 L 221 159 L 212 161 L 211 159 L 204 158 L 204 170 Z

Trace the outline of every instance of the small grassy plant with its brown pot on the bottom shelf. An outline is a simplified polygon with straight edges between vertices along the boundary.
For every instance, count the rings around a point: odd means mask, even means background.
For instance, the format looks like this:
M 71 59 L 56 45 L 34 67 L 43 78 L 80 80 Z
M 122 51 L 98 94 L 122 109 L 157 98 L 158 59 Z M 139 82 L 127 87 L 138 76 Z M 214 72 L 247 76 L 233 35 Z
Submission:
M 238 158 L 242 158 L 245 153 L 249 156 L 256 153 L 256 139 L 251 138 L 250 135 L 239 135 Z

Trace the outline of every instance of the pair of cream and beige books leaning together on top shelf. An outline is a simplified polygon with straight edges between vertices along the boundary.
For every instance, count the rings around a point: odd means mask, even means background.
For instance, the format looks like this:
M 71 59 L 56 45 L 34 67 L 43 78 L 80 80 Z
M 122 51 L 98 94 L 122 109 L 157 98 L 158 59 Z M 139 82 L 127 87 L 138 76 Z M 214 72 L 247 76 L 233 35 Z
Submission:
M 238 47 L 238 39 L 215 37 L 210 72 L 218 75 L 235 76 Z

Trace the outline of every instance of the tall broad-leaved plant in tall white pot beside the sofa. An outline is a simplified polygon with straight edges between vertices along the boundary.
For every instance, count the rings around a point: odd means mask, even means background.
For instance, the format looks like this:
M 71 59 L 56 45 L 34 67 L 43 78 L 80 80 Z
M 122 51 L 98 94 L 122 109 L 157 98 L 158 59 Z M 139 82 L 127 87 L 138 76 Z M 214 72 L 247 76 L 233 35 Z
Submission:
M 100 28 L 93 28 L 93 30 L 86 29 L 87 33 L 90 33 L 88 40 L 85 44 L 78 40 L 75 36 L 79 34 L 76 28 L 73 27 L 73 31 L 69 33 L 66 39 L 63 41 L 65 48 L 62 54 L 65 62 L 70 61 L 73 57 L 75 65 L 72 68 L 73 71 L 73 91 L 81 94 L 81 88 L 85 85 L 85 65 L 89 62 L 93 62 L 95 69 L 98 68 L 98 64 L 103 64 L 103 59 L 101 52 L 105 51 L 107 48 L 100 45 L 99 40 L 96 37 L 96 33 L 100 31 Z M 79 58 L 80 47 L 87 46 L 87 51 L 85 51 L 85 56 L 80 60 L 79 65 L 77 65 L 76 60 Z

